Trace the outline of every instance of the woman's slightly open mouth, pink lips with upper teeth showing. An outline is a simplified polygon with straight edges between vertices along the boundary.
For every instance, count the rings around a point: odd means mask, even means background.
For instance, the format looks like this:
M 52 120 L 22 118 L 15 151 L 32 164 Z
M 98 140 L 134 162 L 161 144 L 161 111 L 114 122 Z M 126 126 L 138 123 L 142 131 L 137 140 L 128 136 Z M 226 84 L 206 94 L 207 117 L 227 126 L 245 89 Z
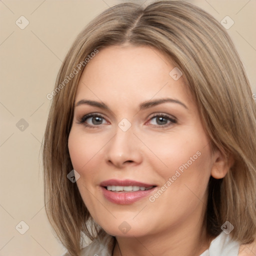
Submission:
M 103 196 L 115 204 L 131 204 L 152 193 L 156 185 L 134 180 L 109 179 L 100 183 Z

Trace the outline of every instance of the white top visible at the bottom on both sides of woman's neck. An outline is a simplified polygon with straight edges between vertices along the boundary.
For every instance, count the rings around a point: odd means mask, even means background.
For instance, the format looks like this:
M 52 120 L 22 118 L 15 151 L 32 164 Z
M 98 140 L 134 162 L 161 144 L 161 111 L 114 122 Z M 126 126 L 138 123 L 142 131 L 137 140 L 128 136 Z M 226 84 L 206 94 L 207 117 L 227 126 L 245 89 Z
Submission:
M 81 249 L 80 256 L 112 256 L 115 238 L 105 232 L 93 240 L 88 246 Z M 231 237 L 224 232 L 221 232 L 214 238 L 208 249 L 199 256 L 238 256 L 240 243 L 231 240 Z M 68 253 L 62 256 L 70 256 Z

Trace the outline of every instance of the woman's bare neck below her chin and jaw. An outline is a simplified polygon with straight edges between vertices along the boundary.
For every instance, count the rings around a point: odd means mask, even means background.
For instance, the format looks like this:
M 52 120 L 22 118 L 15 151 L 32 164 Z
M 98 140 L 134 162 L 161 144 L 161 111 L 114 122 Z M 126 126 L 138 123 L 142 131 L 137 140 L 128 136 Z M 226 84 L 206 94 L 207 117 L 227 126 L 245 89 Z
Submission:
M 199 223 L 172 227 L 164 232 L 140 237 L 118 237 L 113 256 L 146 256 L 146 255 L 183 255 L 198 256 L 209 247 L 214 237 L 206 234 L 205 228 L 198 228 Z M 196 226 L 197 224 L 197 226 Z

